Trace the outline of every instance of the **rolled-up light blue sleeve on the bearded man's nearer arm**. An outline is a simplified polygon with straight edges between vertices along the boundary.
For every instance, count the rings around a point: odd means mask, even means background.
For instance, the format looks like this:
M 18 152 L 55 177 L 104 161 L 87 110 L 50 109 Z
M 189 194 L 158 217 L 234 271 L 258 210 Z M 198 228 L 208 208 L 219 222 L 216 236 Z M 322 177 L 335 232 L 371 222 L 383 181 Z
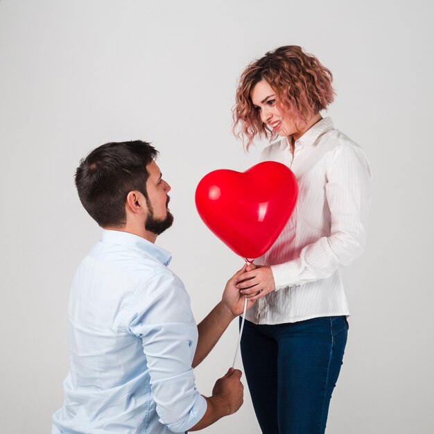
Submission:
M 161 272 L 137 295 L 131 313 L 130 330 L 143 343 L 159 421 L 184 433 L 207 410 L 191 367 L 198 329 L 189 295 L 180 279 Z

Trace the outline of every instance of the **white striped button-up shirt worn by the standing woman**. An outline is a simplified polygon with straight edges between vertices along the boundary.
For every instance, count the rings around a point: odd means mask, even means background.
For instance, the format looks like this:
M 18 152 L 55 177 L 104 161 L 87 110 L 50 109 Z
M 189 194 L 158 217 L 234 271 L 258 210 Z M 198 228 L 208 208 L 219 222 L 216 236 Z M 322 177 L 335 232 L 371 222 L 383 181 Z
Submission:
M 255 263 L 271 266 L 276 290 L 257 300 L 246 319 L 281 324 L 349 315 L 345 268 L 365 249 L 371 171 L 362 148 L 333 128 L 315 123 L 295 142 L 268 146 L 261 160 L 295 173 L 295 211 L 270 250 Z

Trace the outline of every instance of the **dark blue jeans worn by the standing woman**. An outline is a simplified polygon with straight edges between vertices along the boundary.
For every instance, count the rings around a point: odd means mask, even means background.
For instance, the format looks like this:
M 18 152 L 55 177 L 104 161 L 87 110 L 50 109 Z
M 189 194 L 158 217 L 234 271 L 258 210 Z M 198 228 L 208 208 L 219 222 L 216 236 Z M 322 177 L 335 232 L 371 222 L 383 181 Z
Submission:
M 322 434 L 347 343 L 345 316 L 245 321 L 241 354 L 264 434 Z

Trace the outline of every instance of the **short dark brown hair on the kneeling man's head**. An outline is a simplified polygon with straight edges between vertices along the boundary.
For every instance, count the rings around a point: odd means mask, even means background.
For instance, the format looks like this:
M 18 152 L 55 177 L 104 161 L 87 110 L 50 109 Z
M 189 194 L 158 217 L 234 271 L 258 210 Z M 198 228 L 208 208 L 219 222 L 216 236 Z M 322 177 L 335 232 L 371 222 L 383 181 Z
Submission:
M 102 227 L 125 225 L 125 200 L 133 190 L 148 201 L 146 166 L 158 151 L 146 141 L 121 141 L 98 146 L 76 170 L 78 197 Z

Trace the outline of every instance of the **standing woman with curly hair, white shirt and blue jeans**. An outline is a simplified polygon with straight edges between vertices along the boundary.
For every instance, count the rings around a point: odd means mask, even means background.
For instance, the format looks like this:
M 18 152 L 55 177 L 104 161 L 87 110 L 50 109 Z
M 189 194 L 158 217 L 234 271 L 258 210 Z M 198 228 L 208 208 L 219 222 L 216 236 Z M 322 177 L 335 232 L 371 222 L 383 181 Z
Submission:
M 299 184 L 293 216 L 237 285 L 256 301 L 241 354 L 263 433 L 324 433 L 347 342 L 344 275 L 365 248 L 370 167 L 320 114 L 331 81 L 313 55 L 282 46 L 248 65 L 236 91 L 234 131 L 247 148 L 279 136 L 261 159 L 286 164 Z

